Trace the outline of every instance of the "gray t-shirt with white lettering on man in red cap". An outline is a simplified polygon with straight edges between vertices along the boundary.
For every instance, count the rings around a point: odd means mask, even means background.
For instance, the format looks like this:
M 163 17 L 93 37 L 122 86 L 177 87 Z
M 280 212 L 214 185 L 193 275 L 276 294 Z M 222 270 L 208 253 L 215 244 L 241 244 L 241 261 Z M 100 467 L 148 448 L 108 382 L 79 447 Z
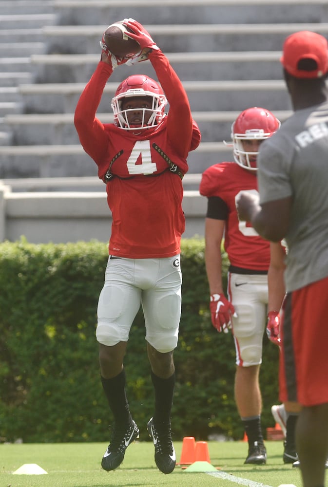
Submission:
M 287 291 L 328 276 L 328 103 L 296 111 L 260 147 L 260 202 L 293 197 Z

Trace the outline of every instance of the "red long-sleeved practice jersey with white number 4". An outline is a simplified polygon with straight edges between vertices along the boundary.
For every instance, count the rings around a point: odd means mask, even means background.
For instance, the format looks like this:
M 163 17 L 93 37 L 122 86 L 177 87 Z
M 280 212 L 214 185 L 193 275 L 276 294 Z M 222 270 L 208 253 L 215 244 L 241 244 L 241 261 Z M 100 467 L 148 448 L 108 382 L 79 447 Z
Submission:
M 188 153 L 200 141 L 187 94 L 168 59 L 161 52 L 149 57 L 170 104 L 158 126 L 134 134 L 96 118 L 112 74 L 105 62 L 97 65 L 75 112 L 81 145 L 96 162 L 99 178 L 103 179 L 109 167 L 113 174 L 106 185 L 113 217 L 109 253 L 131 259 L 171 257 L 180 252 L 185 229 L 183 187 L 180 177 L 169 170 L 168 160 L 186 173 Z

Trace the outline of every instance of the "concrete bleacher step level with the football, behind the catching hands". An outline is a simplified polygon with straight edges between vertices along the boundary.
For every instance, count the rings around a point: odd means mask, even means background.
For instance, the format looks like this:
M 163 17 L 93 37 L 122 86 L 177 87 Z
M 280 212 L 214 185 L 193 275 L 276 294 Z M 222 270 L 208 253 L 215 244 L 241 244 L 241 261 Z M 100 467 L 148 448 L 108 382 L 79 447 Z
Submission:
M 99 40 L 108 22 L 98 25 L 45 26 L 48 52 L 99 53 Z M 328 22 L 261 24 L 160 24 L 145 25 L 163 52 L 281 50 L 289 34 L 311 30 L 327 34 Z

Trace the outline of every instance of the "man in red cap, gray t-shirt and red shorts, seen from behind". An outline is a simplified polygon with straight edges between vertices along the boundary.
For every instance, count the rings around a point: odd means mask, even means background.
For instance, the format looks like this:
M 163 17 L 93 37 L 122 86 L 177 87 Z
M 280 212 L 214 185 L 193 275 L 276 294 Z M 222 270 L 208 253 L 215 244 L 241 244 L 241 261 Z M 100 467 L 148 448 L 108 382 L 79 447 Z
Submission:
M 261 146 L 259 196 L 237 201 L 264 238 L 286 239 L 287 295 L 280 329 L 280 399 L 297 401 L 296 449 L 304 487 L 323 487 L 328 454 L 328 42 L 285 39 L 283 74 L 294 113 Z

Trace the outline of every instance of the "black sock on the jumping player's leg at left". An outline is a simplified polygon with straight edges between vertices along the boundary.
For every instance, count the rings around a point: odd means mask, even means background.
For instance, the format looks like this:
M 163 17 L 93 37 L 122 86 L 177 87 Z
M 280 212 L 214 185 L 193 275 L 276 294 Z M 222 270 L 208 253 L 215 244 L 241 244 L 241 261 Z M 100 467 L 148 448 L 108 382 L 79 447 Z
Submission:
M 129 403 L 125 392 L 125 371 L 124 369 L 116 377 L 105 379 L 101 376 L 101 383 L 111 411 L 114 415 L 114 421 L 119 425 L 126 425 L 132 422 L 129 411 Z

